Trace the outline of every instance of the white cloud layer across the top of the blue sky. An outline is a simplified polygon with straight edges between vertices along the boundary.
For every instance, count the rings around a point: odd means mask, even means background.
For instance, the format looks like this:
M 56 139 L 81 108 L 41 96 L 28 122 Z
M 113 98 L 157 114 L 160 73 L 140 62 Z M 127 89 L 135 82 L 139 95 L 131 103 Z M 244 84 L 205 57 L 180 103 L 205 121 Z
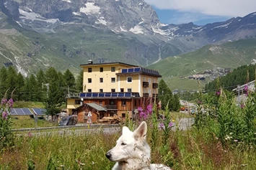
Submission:
M 256 11 L 255 0 L 145 0 L 157 9 L 174 9 L 213 16 L 245 16 Z

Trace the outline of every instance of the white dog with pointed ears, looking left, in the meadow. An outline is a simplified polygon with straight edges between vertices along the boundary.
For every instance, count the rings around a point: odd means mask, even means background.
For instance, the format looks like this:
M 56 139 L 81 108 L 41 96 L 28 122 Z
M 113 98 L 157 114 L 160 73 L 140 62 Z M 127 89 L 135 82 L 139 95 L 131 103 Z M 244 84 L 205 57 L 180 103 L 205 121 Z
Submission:
M 150 148 L 146 143 L 146 122 L 132 132 L 123 127 L 122 136 L 114 148 L 107 152 L 107 159 L 118 161 L 112 170 L 171 170 L 162 164 L 150 164 Z

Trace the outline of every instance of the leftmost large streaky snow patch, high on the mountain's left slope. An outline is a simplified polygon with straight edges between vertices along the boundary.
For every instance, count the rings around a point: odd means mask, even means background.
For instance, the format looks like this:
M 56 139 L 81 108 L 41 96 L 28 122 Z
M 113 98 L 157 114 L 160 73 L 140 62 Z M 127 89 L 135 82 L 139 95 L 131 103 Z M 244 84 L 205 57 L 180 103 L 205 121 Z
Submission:
M 19 16 L 19 18 L 21 20 L 37 20 L 37 21 L 42 21 L 42 22 L 48 22 L 48 23 L 56 23 L 58 22 L 58 19 L 45 19 L 43 16 L 40 16 L 40 14 L 36 14 L 35 12 L 33 12 L 31 9 L 29 10 L 30 12 L 27 11 L 23 11 L 22 9 L 19 9 L 19 14 L 21 14 L 21 16 Z

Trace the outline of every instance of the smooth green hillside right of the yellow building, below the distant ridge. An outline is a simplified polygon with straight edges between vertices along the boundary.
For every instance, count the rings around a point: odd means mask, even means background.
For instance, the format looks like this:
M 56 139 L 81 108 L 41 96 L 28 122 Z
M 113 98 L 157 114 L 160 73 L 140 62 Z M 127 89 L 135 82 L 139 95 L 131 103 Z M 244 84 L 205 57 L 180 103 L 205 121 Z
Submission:
M 182 90 L 198 89 L 198 80 L 179 78 L 194 75 L 214 67 L 234 69 L 241 65 L 248 65 L 256 60 L 256 39 L 240 39 L 218 45 L 206 45 L 195 52 L 166 59 L 150 65 L 149 68 L 159 70 L 169 87 Z M 176 82 L 175 82 L 176 80 Z M 200 86 L 208 82 L 199 81 Z

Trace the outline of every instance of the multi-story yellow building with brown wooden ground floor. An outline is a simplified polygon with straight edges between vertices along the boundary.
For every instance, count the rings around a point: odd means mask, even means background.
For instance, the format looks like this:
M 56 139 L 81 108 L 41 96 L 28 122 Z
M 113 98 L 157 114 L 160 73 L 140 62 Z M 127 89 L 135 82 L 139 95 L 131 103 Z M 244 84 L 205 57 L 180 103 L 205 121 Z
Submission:
M 109 62 L 80 65 L 84 70 L 83 92 L 67 98 L 69 114 L 76 112 L 79 122 L 92 115 L 92 122 L 104 116 L 133 114 L 133 110 L 148 98 L 157 98 L 158 77 L 156 70 Z M 147 103 L 144 103 L 147 104 Z

